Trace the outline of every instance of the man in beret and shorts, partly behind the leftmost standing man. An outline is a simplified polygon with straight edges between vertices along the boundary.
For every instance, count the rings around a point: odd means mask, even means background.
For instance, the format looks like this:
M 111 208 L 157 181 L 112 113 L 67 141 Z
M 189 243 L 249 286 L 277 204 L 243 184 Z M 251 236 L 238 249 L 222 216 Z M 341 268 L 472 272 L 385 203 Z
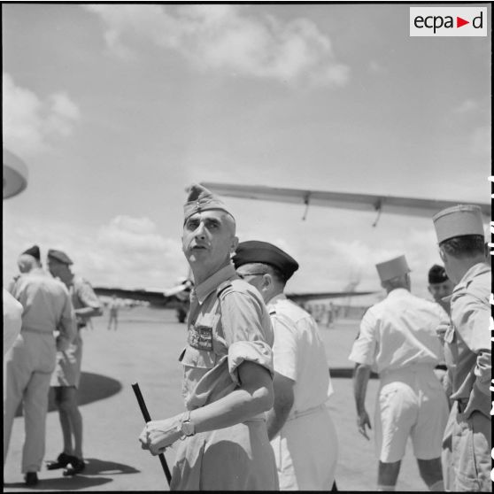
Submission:
M 55 404 L 62 428 L 64 449 L 58 459 L 48 462 L 48 469 L 65 468 L 64 475 L 76 475 L 85 468 L 82 455 L 82 415 L 77 403 L 77 390 L 81 380 L 82 338 L 81 328 L 85 328 L 89 318 L 103 314 L 101 302 L 90 283 L 78 274 L 73 274 L 73 264 L 65 252 L 48 251 L 48 269 L 63 282 L 70 292 L 77 334 L 66 351 L 58 351 L 57 367 L 51 378 L 55 390 Z

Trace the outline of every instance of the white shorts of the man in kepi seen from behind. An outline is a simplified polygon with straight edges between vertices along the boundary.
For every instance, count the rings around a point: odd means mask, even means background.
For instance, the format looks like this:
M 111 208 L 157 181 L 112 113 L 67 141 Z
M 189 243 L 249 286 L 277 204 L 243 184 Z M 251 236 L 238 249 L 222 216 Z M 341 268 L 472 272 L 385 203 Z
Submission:
M 412 437 L 417 459 L 441 457 L 448 403 L 432 367 L 405 367 L 382 376 L 375 407 L 376 455 L 394 463 Z

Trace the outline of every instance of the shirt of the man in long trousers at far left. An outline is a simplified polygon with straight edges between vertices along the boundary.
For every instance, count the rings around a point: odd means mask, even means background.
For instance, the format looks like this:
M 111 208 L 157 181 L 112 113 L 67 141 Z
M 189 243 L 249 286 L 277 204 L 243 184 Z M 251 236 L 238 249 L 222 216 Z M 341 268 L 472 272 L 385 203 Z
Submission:
M 36 268 L 19 276 L 12 286 L 12 296 L 24 307 L 21 331 L 53 334 L 58 330 L 60 340 L 73 340 L 73 305 L 62 282 Z

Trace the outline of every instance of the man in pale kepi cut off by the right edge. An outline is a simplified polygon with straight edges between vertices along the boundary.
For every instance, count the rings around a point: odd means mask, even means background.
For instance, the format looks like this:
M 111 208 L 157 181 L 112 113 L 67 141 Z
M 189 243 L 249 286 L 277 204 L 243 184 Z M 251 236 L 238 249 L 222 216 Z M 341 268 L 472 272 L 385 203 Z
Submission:
M 444 334 L 452 374 L 452 469 L 455 491 L 491 491 L 490 482 L 490 266 L 482 211 L 458 205 L 434 218 L 437 243 L 455 284 L 451 324 Z M 446 466 L 447 467 L 447 466 Z

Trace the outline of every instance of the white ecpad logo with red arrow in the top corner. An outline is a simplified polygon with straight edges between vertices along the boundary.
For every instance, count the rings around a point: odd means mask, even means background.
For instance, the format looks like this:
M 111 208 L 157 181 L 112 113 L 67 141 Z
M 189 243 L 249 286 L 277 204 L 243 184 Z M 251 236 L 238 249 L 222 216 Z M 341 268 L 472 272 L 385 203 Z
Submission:
M 487 36 L 487 7 L 410 7 L 411 36 Z

